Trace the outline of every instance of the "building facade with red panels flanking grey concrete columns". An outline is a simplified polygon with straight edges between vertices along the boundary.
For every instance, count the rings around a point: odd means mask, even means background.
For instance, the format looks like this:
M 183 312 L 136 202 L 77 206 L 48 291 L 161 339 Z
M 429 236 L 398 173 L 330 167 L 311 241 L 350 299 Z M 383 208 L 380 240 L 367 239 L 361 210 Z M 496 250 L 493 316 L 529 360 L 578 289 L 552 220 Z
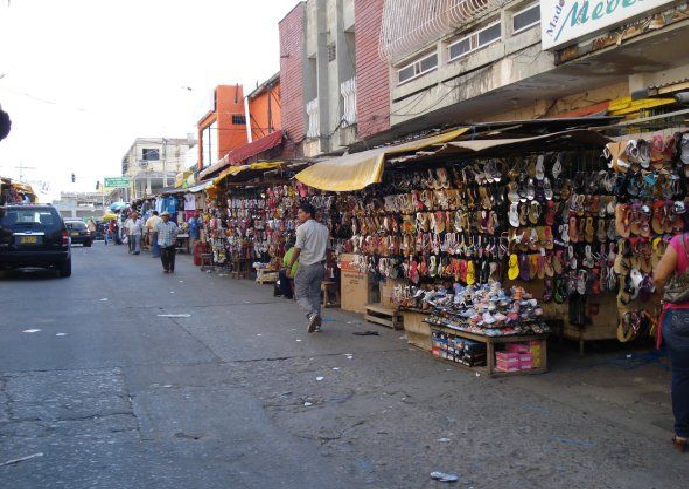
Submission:
M 342 153 L 390 127 L 389 65 L 378 56 L 384 0 L 308 0 L 280 22 L 286 145 Z

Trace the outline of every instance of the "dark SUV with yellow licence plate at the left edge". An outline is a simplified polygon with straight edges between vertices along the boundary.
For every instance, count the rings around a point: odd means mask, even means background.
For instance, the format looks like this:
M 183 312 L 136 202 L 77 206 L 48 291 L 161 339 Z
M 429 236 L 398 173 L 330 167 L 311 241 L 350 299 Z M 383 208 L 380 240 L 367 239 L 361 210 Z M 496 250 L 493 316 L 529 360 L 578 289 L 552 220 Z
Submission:
M 69 231 L 47 204 L 0 207 L 0 269 L 50 268 L 72 274 Z

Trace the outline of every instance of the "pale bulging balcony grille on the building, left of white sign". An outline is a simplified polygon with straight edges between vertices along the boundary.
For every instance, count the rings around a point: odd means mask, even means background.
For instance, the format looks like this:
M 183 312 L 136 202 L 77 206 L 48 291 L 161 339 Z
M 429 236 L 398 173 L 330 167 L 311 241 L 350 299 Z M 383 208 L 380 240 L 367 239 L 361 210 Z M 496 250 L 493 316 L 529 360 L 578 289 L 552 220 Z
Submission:
M 379 51 L 397 63 L 508 0 L 385 0 Z

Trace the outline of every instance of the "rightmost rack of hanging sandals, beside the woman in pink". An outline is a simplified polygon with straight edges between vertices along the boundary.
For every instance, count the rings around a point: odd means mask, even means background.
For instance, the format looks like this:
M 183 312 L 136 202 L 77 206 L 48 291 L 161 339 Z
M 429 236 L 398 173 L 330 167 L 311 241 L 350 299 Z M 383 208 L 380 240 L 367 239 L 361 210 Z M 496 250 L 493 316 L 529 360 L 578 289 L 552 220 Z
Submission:
M 681 133 L 610 143 L 617 255 L 609 264 L 619 282 L 617 338 L 626 342 L 655 334 L 659 298 L 653 272 L 670 239 L 686 227 L 689 136 Z

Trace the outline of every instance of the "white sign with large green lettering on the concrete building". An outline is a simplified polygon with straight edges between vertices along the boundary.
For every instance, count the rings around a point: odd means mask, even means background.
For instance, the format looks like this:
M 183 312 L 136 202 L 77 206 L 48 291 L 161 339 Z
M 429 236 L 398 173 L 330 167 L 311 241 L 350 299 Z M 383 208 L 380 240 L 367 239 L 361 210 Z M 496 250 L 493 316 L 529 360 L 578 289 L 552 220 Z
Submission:
M 628 22 L 673 0 L 541 0 L 543 49 Z

